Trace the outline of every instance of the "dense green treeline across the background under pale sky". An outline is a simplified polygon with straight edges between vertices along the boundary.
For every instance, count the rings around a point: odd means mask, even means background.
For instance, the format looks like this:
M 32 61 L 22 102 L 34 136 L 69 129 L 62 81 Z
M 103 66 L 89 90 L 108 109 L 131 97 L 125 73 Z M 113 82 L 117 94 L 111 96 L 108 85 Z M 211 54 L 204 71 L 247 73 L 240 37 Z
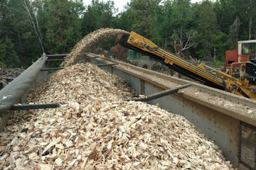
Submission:
M 27 67 L 42 52 L 70 52 L 98 28 L 135 31 L 156 44 L 200 60 L 224 60 L 238 40 L 256 37 L 256 1 L 131 0 L 117 13 L 113 1 L 0 0 L 0 67 Z

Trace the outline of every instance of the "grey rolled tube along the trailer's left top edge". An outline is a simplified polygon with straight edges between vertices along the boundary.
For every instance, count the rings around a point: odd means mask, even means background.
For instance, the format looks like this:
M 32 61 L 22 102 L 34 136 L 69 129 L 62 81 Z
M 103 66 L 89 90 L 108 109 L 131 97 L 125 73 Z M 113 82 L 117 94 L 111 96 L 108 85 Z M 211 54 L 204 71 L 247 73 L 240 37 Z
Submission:
M 6 113 L 21 99 L 24 93 L 28 91 L 36 76 L 41 72 L 43 64 L 46 62 L 46 54 L 36 60 L 28 69 L 22 72 L 10 84 L 0 91 L 0 114 Z

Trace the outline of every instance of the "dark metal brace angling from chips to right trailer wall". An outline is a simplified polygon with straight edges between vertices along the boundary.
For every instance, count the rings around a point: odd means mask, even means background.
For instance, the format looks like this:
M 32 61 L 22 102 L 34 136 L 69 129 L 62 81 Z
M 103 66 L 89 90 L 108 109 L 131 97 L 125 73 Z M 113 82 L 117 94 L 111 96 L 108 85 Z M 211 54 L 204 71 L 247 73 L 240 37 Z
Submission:
M 184 84 L 182 86 L 177 86 L 175 89 L 167 89 L 165 91 L 160 91 L 156 94 L 150 94 L 146 98 L 130 98 L 130 99 L 125 99 L 124 101 L 152 101 L 156 98 L 161 98 L 164 96 L 168 96 L 170 94 L 176 94 L 176 93 L 178 93 L 179 89 L 184 89 L 188 86 L 191 86 L 191 84 Z

